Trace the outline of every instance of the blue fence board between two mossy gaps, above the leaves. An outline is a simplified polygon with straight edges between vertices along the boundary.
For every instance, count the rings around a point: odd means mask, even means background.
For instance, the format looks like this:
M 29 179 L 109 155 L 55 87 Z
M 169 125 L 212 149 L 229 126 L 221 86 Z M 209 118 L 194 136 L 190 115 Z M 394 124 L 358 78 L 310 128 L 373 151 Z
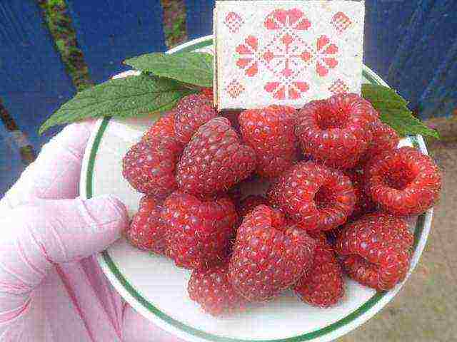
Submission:
M 165 51 L 159 0 L 67 0 L 76 39 L 95 83 L 125 71 L 124 59 Z

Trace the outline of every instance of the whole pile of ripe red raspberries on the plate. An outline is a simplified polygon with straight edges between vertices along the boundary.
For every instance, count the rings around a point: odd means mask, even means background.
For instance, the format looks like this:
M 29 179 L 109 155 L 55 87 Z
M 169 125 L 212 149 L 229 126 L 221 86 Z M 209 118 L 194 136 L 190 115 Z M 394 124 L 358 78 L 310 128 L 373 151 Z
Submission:
M 206 90 L 182 98 L 123 160 L 144 193 L 126 235 L 191 269 L 189 296 L 209 314 L 286 289 L 337 304 L 343 274 L 378 291 L 408 272 L 405 217 L 438 199 L 441 173 L 356 94 L 301 110 L 218 113 Z M 249 182 L 268 185 L 242 197 Z

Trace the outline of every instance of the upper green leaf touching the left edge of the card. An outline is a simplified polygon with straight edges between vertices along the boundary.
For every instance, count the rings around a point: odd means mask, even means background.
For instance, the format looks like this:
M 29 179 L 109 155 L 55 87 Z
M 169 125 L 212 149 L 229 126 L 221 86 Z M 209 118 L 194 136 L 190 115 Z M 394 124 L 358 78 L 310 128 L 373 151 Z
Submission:
M 146 53 L 124 61 L 136 70 L 201 87 L 213 86 L 213 56 L 209 53 Z

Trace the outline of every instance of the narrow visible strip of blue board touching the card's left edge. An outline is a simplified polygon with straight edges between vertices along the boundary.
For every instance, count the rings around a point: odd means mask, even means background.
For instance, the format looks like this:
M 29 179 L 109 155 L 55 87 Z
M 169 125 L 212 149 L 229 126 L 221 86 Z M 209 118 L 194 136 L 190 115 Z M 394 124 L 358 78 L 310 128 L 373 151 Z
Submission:
M 186 0 L 186 25 L 189 39 L 213 33 L 215 0 Z

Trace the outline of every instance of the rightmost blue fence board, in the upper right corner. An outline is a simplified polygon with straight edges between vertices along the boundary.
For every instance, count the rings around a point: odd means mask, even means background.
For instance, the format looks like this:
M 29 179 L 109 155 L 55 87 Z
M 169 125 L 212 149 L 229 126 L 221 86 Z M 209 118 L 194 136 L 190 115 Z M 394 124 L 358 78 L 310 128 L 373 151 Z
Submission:
M 422 118 L 432 114 L 451 115 L 450 108 L 456 105 L 456 98 L 448 97 L 451 89 L 430 88 L 431 85 L 455 87 L 457 83 L 456 53 L 453 52 L 456 20 L 457 1 L 418 1 L 406 34 L 398 41 L 386 81 L 411 101 L 411 108 L 418 110 Z M 447 105 L 442 106 L 445 101 Z M 435 109 L 426 108 L 429 104 Z

